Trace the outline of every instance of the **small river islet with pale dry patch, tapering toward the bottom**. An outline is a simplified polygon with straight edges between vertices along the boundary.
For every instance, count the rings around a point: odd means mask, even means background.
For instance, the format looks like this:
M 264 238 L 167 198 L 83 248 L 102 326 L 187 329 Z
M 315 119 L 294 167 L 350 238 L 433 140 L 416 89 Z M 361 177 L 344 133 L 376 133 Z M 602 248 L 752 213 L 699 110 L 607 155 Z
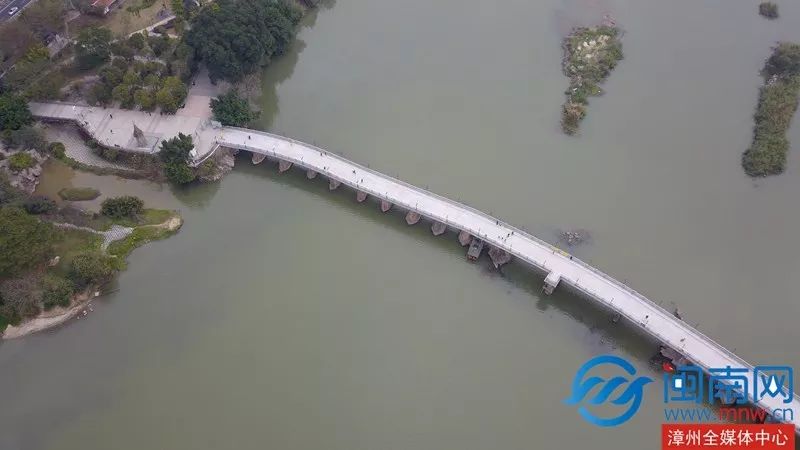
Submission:
M 590 96 L 602 95 L 600 84 L 622 60 L 619 30 L 611 26 L 576 28 L 564 39 L 563 70 L 570 79 L 561 111 L 564 133 L 578 132 Z

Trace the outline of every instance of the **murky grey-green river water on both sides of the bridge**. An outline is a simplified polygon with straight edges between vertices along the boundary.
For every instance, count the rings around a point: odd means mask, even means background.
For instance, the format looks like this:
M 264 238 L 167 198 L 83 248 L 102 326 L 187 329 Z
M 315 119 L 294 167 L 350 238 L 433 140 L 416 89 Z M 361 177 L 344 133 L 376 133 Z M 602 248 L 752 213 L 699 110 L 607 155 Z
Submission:
M 580 258 L 750 362 L 800 368 L 800 152 L 779 177 L 740 167 L 758 71 L 800 41 L 800 3 L 780 8 L 337 0 L 265 71 L 260 125 L 551 242 L 590 230 Z M 560 40 L 606 13 L 625 59 L 568 137 Z M 614 429 L 562 403 L 599 353 L 660 375 L 651 344 L 542 296 L 540 275 L 470 264 L 452 234 L 245 158 L 216 185 L 136 189 L 184 227 L 136 250 L 86 319 L 0 344 L 0 448 L 660 446 L 660 389 Z

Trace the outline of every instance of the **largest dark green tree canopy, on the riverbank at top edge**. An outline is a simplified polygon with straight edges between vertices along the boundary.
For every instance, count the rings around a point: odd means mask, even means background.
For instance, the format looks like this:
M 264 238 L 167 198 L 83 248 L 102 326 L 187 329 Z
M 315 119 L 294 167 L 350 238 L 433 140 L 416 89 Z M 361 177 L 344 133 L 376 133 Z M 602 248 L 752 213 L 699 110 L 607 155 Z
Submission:
M 286 50 L 301 14 L 289 0 L 220 0 L 200 10 L 186 42 L 212 80 L 238 81 Z

